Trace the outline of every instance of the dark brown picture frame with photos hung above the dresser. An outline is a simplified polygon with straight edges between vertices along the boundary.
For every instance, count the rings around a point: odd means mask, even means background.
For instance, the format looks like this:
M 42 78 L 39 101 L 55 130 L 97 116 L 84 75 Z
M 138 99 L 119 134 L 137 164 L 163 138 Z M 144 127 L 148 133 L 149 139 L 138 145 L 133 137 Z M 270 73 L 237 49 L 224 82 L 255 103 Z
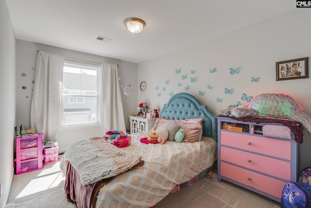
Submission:
M 309 78 L 308 57 L 276 62 L 276 81 Z

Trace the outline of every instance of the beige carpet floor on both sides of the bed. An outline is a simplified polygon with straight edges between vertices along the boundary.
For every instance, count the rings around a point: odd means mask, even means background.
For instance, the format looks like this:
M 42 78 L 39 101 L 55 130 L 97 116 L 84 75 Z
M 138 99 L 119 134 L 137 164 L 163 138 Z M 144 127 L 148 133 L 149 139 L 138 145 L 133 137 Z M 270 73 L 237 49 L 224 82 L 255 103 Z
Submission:
M 42 170 L 14 175 L 6 208 L 73 208 L 63 194 L 64 183 L 59 162 L 48 164 Z M 180 207 L 280 208 L 280 204 L 226 181 L 213 182 L 205 177 L 190 187 L 170 193 L 155 205 L 155 208 Z

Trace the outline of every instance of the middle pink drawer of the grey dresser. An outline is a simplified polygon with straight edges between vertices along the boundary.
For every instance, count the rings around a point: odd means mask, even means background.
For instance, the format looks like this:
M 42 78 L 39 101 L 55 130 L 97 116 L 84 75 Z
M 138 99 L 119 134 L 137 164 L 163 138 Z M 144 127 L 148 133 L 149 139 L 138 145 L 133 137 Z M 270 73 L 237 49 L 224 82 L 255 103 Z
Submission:
M 221 147 L 220 158 L 245 168 L 291 180 L 291 163 L 287 161 L 227 147 Z

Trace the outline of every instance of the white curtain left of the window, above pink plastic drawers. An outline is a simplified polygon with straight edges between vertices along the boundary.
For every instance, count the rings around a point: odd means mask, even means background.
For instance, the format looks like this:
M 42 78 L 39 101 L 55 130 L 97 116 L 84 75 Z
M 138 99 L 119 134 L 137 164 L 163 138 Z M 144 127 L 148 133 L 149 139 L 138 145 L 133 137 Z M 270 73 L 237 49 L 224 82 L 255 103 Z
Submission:
M 45 140 L 58 139 L 64 57 L 39 52 L 31 106 L 31 128 Z

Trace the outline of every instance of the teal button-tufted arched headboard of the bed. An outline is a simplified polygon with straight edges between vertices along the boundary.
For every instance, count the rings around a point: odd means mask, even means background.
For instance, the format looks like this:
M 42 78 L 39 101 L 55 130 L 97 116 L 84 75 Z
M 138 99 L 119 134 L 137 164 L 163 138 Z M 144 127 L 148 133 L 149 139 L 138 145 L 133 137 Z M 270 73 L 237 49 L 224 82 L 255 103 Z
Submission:
M 162 110 L 159 112 L 159 116 L 173 120 L 202 118 L 203 136 L 213 138 L 217 142 L 216 116 L 210 113 L 206 105 L 201 105 L 201 103 L 190 94 L 179 93 L 173 95 L 168 103 L 163 105 Z

